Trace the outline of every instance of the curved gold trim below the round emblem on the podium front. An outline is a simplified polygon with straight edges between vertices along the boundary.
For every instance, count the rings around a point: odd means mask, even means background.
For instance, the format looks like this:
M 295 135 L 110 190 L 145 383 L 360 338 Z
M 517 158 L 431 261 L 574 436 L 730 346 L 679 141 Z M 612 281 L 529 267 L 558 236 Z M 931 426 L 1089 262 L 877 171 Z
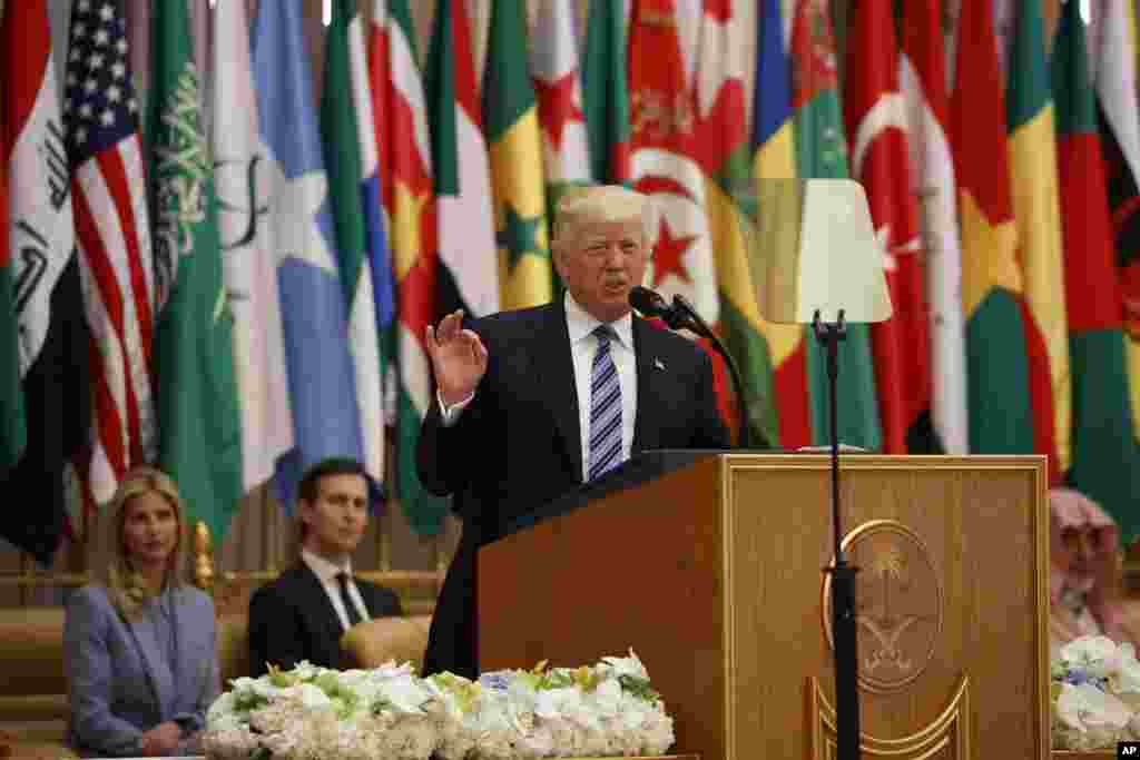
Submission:
M 974 757 L 970 752 L 970 679 L 963 675 L 943 711 L 919 730 L 899 738 L 877 738 L 860 734 L 860 752 L 864 757 L 926 760 L 945 750 L 953 741 L 959 760 Z M 808 760 L 834 760 L 836 710 L 820 688 L 820 680 L 807 678 L 807 757 Z

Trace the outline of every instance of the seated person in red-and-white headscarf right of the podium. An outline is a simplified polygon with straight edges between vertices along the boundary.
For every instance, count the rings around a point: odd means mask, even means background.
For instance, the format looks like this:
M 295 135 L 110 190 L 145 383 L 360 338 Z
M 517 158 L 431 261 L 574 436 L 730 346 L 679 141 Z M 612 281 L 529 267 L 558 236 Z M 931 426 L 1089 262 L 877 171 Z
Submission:
M 1096 501 L 1080 491 L 1049 491 L 1051 648 L 1081 636 L 1135 643 L 1119 598 L 1119 531 Z

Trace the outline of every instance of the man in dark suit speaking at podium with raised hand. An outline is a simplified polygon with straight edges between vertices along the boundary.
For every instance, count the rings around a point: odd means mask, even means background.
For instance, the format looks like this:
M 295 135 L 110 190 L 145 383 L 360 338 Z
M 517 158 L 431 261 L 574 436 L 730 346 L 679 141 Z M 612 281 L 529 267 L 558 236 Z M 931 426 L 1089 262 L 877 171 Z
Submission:
M 475 554 L 511 520 L 638 451 L 728 444 L 708 354 L 632 313 L 629 292 L 650 255 L 650 211 L 644 195 L 619 186 L 568 195 L 552 245 L 564 299 L 466 327 L 455 312 L 427 327 L 437 399 L 417 469 L 427 490 L 455 495 L 464 525 L 425 675 L 478 676 Z

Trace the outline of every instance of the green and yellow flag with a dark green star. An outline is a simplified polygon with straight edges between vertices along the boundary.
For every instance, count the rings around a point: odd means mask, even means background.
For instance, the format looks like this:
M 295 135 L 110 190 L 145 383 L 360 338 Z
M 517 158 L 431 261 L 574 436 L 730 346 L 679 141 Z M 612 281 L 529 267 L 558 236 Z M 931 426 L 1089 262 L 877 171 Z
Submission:
M 483 129 L 491 154 L 503 309 L 551 300 L 543 148 L 527 66 L 527 9 L 497 0 L 483 70 Z

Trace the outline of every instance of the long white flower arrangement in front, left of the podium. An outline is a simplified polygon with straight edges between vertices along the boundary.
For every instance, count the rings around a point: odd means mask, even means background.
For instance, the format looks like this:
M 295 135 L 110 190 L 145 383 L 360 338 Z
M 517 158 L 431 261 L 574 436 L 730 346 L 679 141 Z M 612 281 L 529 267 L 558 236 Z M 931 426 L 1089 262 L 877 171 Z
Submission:
M 660 755 L 673 719 L 637 655 L 417 678 L 410 664 L 336 671 L 307 662 L 238 678 L 211 705 L 212 760 L 537 760 Z

